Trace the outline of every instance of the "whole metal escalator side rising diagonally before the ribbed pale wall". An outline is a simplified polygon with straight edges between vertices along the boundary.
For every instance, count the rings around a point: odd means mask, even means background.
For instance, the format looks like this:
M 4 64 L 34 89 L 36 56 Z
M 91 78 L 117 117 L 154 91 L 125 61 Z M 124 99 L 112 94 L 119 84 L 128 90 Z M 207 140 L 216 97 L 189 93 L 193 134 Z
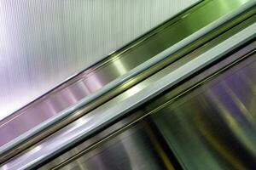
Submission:
M 0 169 L 256 168 L 255 4 L 197 3 L 7 117 Z

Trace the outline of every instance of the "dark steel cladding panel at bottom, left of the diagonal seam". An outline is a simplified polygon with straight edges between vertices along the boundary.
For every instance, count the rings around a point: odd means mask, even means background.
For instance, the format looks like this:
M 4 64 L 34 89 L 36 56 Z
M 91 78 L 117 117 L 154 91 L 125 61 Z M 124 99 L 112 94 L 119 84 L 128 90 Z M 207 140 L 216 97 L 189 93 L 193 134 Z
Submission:
M 61 169 L 174 169 L 150 125 L 141 122 Z

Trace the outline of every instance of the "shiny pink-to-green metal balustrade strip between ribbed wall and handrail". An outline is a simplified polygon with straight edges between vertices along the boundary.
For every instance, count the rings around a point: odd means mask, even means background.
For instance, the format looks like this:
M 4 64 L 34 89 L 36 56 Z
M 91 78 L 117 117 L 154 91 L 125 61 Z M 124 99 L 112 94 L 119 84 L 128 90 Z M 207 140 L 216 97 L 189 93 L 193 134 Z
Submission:
M 189 36 L 213 20 L 217 20 L 220 16 L 230 13 L 244 3 L 247 3 L 247 1 L 236 0 L 232 3 L 232 6 L 226 6 L 224 1 L 212 0 L 202 3 L 199 7 L 191 9 L 185 14 L 181 14 L 176 19 L 153 31 L 151 35 L 146 36 L 148 39 L 143 39 L 145 38 L 143 37 L 131 44 L 131 50 L 112 54 L 109 59 L 104 60 L 103 64 L 96 65 L 94 70 L 85 71 L 79 77 L 75 77 L 72 81 L 57 88 L 52 94 L 38 99 L 32 105 L 3 120 L 0 128 L 2 136 L 0 144 L 8 143 L 32 127 L 55 116 L 68 106 L 77 103 L 79 99 L 113 81 L 125 71 L 130 71 L 165 48 L 172 46 L 175 42 Z M 212 8 L 216 8 L 218 13 L 209 13 Z M 190 13 L 192 11 L 193 13 Z M 202 17 L 203 20 L 199 20 L 198 17 Z M 120 63 L 124 65 L 121 70 L 116 67 Z M 20 127 L 20 123 L 24 126 Z M 15 131 L 12 129 L 15 129 Z M 7 131 L 9 133 L 5 133 Z

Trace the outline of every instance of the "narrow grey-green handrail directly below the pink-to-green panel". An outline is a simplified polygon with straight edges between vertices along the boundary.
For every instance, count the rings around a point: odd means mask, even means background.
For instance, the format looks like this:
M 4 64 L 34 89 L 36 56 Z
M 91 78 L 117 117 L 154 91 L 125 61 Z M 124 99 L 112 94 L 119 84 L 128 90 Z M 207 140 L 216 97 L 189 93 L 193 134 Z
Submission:
M 90 102 L 101 98 L 105 94 L 108 94 L 108 92 L 112 91 L 114 88 L 118 88 L 124 82 L 131 80 L 133 77 L 137 77 L 143 71 L 148 70 L 150 67 L 156 65 L 157 63 L 166 59 L 170 55 L 175 54 L 178 50 L 186 47 L 190 43 L 195 42 L 197 39 L 205 36 L 210 31 L 217 29 L 218 26 L 222 26 L 225 22 L 232 20 L 237 15 L 246 11 L 248 8 L 252 8 L 253 6 L 255 6 L 255 4 L 256 4 L 256 1 L 245 3 L 234 12 L 231 12 L 230 14 L 226 14 L 220 19 L 213 21 L 208 26 L 203 27 L 201 30 L 196 31 L 194 34 L 190 35 L 189 37 L 186 37 L 182 41 L 177 42 L 171 48 L 167 48 L 160 54 L 154 56 L 151 59 L 148 59 L 143 64 L 138 65 L 136 68 L 127 72 L 125 75 L 113 80 L 113 82 L 109 82 L 106 86 L 96 91 L 96 93 L 86 96 L 84 99 L 81 99 L 77 104 L 70 106 L 64 111 L 61 111 L 60 114 L 58 114 L 57 116 L 50 118 L 49 120 L 39 124 L 37 127 L 34 127 L 31 130 L 27 131 L 26 133 L 21 134 L 19 137 L 10 141 L 9 143 L 4 144 L 2 147 L 0 147 L 0 158 L 6 153 L 8 153 L 10 150 L 15 149 L 20 144 L 26 143 L 26 141 L 37 136 L 39 133 L 44 132 L 44 130 L 46 130 L 47 128 L 54 126 L 55 123 L 61 122 L 68 116 L 71 116 L 73 112 L 78 111 L 80 108 L 84 107 L 85 105 L 90 104 Z

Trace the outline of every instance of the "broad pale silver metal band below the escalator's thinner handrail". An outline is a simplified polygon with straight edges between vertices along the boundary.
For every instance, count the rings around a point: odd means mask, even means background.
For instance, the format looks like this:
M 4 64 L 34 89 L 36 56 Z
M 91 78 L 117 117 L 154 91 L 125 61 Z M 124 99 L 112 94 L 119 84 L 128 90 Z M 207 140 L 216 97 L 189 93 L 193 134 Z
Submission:
M 60 132 L 56 133 L 49 139 L 45 139 L 42 144 L 35 146 L 32 150 L 18 156 L 13 161 L 9 161 L 9 163 L 3 165 L 3 168 L 22 169 L 35 166 L 45 159 L 48 159 L 51 154 L 56 154 L 61 150 L 65 150 L 65 147 L 73 144 L 73 142 L 77 142 L 79 139 L 84 138 L 87 135 L 90 135 L 92 132 L 95 132 L 99 127 L 104 126 L 104 123 L 113 121 L 126 111 L 131 111 L 132 107 L 145 102 L 147 99 L 150 99 L 155 94 L 159 94 L 164 89 L 170 88 L 170 86 L 173 86 L 176 81 L 179 82 L 181 79 L 192 74 L 197 69 L 202 68 L 202 66 L 212 63 L 215 59 L 227 54 L 238 44 L 247 40 L 247 38 L 253 38 L 255 36 L 255 26 L 256 24 L 248 26 L 235 36 L 232 36 L 218 44 L 216 47 L 211 48 L 206 53 L 185 62 L 183 65 L 179 65 L 177 68 L 174 67 L 174 71 L 166 75 L 166 77 L 160 78 L 159 81 L 154 82 L 149 87 L 143 88 L 140 92 L 132 95 L 128 99 L 124 99 L 122 101 L 122 105 L 114 105 L 112 108 L 109 108 L 108 103 L 106 105 L 102 105 L 90 114 L 87 114 L 78 121 L 61 129 Z M 127 91 L 127 94 L 131 93 L 131 91 L 129 93 L 128 92 L 129 91 Z

